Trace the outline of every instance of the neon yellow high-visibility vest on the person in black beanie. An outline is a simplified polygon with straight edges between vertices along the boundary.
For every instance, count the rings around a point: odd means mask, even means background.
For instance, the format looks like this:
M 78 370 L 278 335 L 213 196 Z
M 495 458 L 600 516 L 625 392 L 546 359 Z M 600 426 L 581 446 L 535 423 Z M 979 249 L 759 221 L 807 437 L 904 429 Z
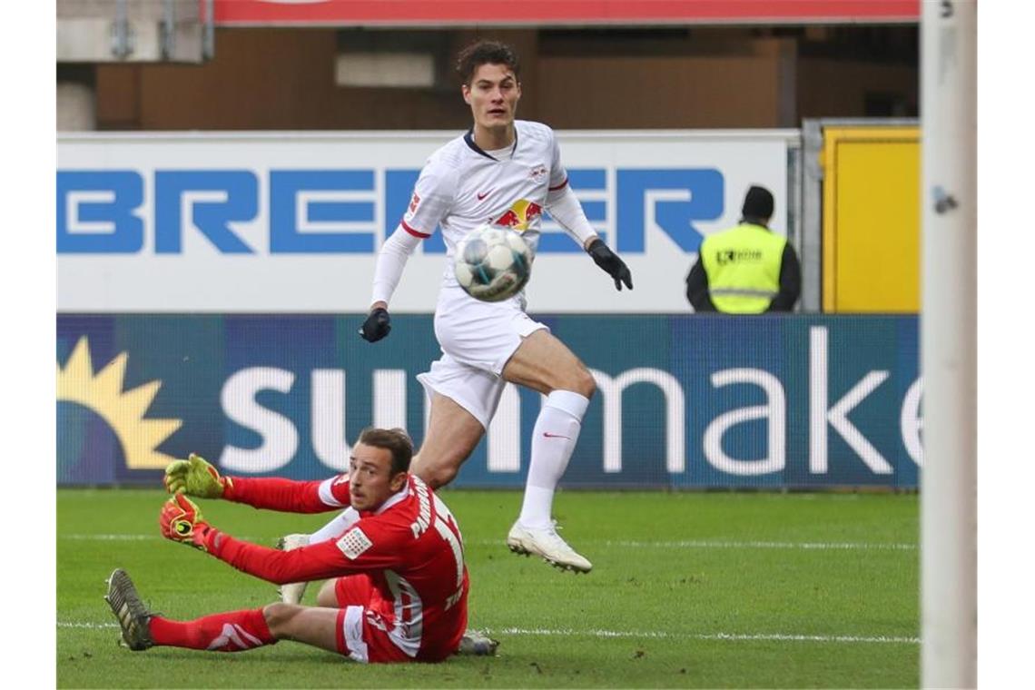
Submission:
M 779 292 L 787 238 L 743 222 L 701 243 L 712 304 L 726 313 L 762 313 Z

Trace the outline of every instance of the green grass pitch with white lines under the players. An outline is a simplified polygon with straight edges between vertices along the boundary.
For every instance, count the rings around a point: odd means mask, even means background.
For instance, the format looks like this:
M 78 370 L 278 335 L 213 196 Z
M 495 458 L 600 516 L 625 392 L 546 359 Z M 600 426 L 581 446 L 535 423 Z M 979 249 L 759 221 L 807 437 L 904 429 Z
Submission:
M 274 588 L 162 540 L 160 490 L 57 494 L 58 687 L 916 687 L 916 496 L 578 492 L 562 535 L 588 575 L 510 553 L 514 491 L 442 492 L 464 532 L 472 626 L 495 658 L 363 666 L 290 641 L 214 654 L 118 647 L 102 597 L 116 567 L 152 610 L 188 620 L 275 600 Z M 325 515 L 201 501 L 272 544 Z M 312 603 L 316 587 L 305 595 Z

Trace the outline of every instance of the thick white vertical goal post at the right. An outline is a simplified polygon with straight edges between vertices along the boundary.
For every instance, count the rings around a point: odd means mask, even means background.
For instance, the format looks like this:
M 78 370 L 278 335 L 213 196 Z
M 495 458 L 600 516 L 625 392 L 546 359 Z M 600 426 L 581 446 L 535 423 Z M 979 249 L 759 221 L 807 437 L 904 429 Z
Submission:
M 925 688 L 977 685 L 977 3 L 925 0 L 920 35 Z

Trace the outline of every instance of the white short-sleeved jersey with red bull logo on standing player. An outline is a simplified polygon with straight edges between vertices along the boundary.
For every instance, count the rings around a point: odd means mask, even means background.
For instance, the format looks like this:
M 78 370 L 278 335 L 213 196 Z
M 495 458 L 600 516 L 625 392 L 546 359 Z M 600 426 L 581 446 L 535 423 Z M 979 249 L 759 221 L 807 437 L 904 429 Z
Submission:
M 420 172 L 401 224 L 419 238 L 431 237 L 436 226 L 442 229 L 448 258 L 444 288 L 456 286 L 456 243 L 484 222 L 521 233 L 534 256 L 546 197 L 567 185 L 553 129 L 515 120 L 514 134 L 513 145 L 494 157 L 468 131 L 433 153 Z

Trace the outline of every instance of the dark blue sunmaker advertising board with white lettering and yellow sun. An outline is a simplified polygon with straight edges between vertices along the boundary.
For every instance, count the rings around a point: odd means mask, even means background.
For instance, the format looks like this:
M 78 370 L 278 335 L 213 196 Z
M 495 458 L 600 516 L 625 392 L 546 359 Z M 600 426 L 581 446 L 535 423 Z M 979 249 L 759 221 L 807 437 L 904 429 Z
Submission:
M 916 487 L 915 316 L 544 316 L 598 390 L 568 487 Z M 152 484 L 198 452 L 231 475 L 345 470 L 360 429 L 423 437 L 430 316 L 59 314 L 58 482 Z M 508 387 L 455 486 L 519 487 L 541 397 Z

